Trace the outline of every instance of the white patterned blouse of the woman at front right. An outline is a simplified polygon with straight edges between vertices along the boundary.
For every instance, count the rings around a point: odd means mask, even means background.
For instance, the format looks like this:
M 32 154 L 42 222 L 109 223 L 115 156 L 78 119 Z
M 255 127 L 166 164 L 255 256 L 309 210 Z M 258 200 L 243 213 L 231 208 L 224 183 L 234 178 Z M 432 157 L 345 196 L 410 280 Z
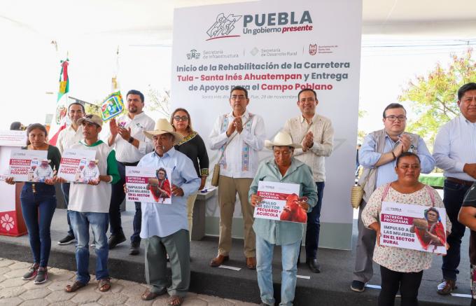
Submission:
M 384 193 L 386 184 L 377 188 L 370 196 L 369 201 L 362 211 L 362 221 L 366 228 L 374 222 L 379 222 L 381 211 L 381 197 Z M 435 193 L 435 207 L 444 208 L 440 195 Z M 407 203 L 421 206 L 432 206 L 432 200 L 426 188 L 422 188 L 414 193 L 399 193 L 392 187 L 388 188 L 388 193 L 384 199 L 388 202 Z M 404 204 L 402 204 L 404 205 Z M 451 222 L 447 216 L 447 231 L 451 232 Z M 410 249 L 401 249 L 393 246 L 377 246 L 374 249 L 374 262 L 383 265 L 389 270 L 395 272 L 420 272 L 430 268 L 433 260 L 433 253 L 416 251 Z

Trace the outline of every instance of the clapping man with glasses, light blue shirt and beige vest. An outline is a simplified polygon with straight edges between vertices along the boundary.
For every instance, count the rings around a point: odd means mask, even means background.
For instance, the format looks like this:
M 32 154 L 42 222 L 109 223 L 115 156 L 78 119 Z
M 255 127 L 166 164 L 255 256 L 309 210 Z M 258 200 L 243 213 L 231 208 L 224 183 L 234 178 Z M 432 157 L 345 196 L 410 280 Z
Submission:
M 358 161 L 364 168 L 358 184 L 360 186 L 365 184 L 365 186 L 358 211 L 358 239 L 352 291 L 363 292 L 365 283 L 373 276 L 372 256 L 376 233 L 374 230 L 365 228 L 360 218 L 372 192 L 379 186 L 397 179 L 395 162 L 404 152 L 418 155 L 421 161 L 421 173 L 430 173 L 435 167 L 435 159 L 428 151 L 425 141 L 417 134 L 405 132 L 406 116 L 407 111 L 401 104 L 388 104 L 384 109 L 384 129 L 365 136 L 358 153 Z

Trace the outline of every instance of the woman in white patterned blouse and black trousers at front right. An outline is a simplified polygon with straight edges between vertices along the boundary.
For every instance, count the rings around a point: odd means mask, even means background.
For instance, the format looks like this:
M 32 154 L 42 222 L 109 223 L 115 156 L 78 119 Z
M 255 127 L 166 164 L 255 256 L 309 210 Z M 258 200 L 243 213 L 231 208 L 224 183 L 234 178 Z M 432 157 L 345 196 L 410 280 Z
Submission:
M 381 202 L 414 204 L 428 207 L 444 207 L 436 190 L 418 181 L 420 160 L 414 153 L 402 153 L 397 159 L 395 172 L 398 180 L 377 188 L 362 211 L 362 221 L 367 228 L 377 232 L 373 260 L 380 265 L 381 291 L 379 306 L 394 305 L 395 295 L 400 289 L 401 305 L 418 305 L 418 290 L 423 270 L 431 265 L 432 253 L 380 245 Z M 433 194 L 432 194 L 433 193 Z M 449 219 L 447 235 L 451 230 Z M 448 247 L 448 246 L 447 246 Z

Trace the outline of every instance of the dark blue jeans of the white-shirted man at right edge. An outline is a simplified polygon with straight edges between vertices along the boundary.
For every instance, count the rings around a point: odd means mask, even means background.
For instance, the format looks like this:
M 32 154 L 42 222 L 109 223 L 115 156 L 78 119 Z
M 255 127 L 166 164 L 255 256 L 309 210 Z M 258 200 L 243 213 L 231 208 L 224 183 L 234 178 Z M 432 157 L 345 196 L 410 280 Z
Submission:
M 444 180 L 443 203 L 447 211 L 449 221 L 451 221 L 451 233 L 447 237 L 449 249 L 447 255 L 443 256 L 441 270 L 444 279 L 456 281 L 456 274 L 459 273 L 458 265 L 461 259 L 461 239 L 464 236 L 465 225 L 458 222 L 459 209 L 463 204 L 463 199 L 470 186 L 466 186 L 453 181 Z

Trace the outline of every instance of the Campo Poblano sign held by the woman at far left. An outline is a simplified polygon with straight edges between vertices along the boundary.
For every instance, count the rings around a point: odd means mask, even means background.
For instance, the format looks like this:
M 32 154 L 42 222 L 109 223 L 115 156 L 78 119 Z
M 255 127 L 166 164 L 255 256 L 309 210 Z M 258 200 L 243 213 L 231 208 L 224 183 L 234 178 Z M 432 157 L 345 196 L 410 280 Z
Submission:
M 48 152 L 43 150 L 13 149 L 10 153 L 9 176 L 15 181 L 44 182 L 53 176 L 48 160 Z

